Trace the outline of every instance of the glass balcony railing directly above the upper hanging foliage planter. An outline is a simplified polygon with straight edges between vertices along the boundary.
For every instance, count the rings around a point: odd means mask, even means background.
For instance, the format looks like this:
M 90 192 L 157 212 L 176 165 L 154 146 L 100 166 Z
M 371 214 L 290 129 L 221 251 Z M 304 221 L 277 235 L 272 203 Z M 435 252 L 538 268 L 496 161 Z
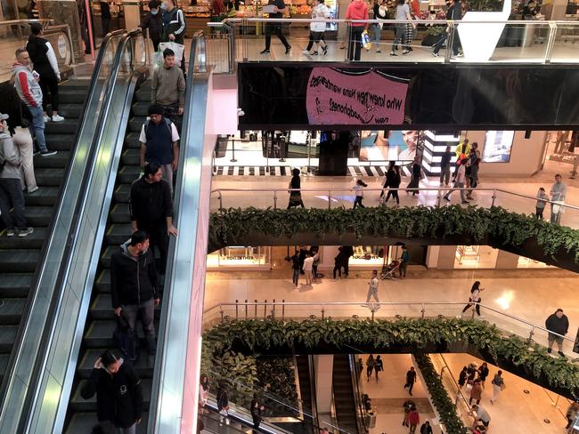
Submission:
M 383 182 L 383 179 L 376 181 Z M 370 187 L 363 189 L 364 206 L 381 206 L 382 198 L 380 194 L 384 192 L 384 197 L 388 191 L 396 190 L 400 197 L 401 206 L 444 206 L 447 204 L 460 204 L 461 191 L 469 192 L 471 189 L 453 189 L 451 187 L 420 187 L 419 189 L 384 189 L 382 187 Z M 211 191 L 211 211 L 219 212 L 227 208 L 285 208 L 290 199 L 291 191 L 299 191 L 306 208 L 350 208 L 355 199 L 355 189 L 353 188 L 330 188 L 330 189 L 214 189 Z M 449 191 L 453 191 L 452 199 L 447 201 L 444 198 Z M 405 194 L 404 194 L 405 193 Z M 415 197 L 413 193 L 417 193 Z M 470 205 L 477 205 L 483 208 L 501 206 L 512 213 L 535 213 L 537 198 L 525 194 L 515 193 L 505 189 L 472 189 L 474 199 Z M 389 199 L 389 203 L 395 205 L 394 198 Z M 561 226 L 572 229 L 579 229 L 579 206 L 568 205 L 562 201 L 544 200 L 545 208 L 543 216 L 550 218 L 553 213 L 557 216 L 557 221 Z M 386 204 L 387 205 L 387 204 Z

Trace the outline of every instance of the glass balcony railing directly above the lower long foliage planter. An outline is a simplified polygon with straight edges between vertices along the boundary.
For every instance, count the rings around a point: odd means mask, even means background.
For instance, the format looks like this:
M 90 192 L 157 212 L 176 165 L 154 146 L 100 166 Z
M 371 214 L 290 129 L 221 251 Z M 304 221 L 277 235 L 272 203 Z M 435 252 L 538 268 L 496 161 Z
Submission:
M 474 303 L 480 307 L 483 316 L 478 317 L 474 306 L 467 313 L 462 309 L 468 302 L 453 301 L 235 301 L 222 302 L 203 311 L 203 327 L 208 329 L 213 325 L 226 321 L 242 319 L 369 319 L 396 321 L 401 318 L 440 318 L 465 317 L 480 319 L 489 325 L 496 325 L 505 335 L 517 335 L 527 342 L 537 342 L 546 345 L 549 334 L 563 338 L 565 350 L 573 348 L 575 340 L 561 334 L 550 332 L 542 325 L 534 324 L 525 318 L 510 315 L 499 309 L 494 309 L 482 303 Z M 567 342 L 567 343 L 565 343 Z

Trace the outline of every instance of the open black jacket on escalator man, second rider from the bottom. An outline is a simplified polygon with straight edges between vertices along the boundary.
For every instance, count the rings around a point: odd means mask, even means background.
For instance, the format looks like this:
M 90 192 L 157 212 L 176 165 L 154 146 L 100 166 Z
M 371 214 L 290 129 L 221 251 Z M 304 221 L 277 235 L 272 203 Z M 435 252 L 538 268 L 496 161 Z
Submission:
M 159 298 L 159 277 L 151 249 L 135 258 L 127 248 L 128 241 L 110 257 L 112 309 Z

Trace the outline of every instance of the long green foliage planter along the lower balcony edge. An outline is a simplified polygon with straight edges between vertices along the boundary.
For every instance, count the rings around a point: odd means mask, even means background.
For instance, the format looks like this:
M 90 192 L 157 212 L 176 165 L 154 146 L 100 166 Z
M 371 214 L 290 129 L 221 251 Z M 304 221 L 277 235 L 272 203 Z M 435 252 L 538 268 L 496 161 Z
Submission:
M 278 320 L 242 320 L 226 322 L 209 329 L 204 345 L 231 347 L 233 340 L 249 350 L 266 351 L 287 345 L 315 350 L 323 345 L 349 350 L 351 347 L 385 348 L 404 345 L 413 350 L 428 344 L 467 342 L 480 350 L 487 350 L 495 358 L 509 360 L 515 366 L 524 366 L 536 378 L 547 379 L 550 386 L 570 390 L 579 387 L 579 366 L 564 359 L 551 358 L 545 347 L 537 343 L 527 345 L 515 335 L 505 336 L 494 325 L 459 318 L 398 319 L 334 321 L 305 320 L 281 322 Z

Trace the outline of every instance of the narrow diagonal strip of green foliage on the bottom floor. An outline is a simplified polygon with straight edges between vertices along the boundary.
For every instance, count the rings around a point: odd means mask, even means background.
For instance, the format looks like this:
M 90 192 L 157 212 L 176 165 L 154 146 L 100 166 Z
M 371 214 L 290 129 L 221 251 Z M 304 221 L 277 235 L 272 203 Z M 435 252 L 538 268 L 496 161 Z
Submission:
M 432 364 L 432 360 L 424 354 L 414 356 L 420 369 L 420 373 L 426 382 L 432 403 L 440 416 L 440 422 L 444 424 L 446 432 L 453 434 L 466 434 L 468 431 L 456 414 L 453 401 L 449 398 L 440 376 Z

